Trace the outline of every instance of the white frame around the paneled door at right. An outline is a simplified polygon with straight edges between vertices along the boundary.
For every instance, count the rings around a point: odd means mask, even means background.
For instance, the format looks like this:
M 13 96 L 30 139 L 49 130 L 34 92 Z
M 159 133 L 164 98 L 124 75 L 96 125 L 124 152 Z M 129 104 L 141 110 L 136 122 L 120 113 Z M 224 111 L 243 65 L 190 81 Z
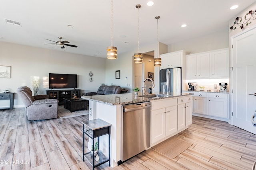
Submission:
M 241 31 L 240 33 L 237 33 L 235 35 L 232 35 L 230 37 L 230 90 L 229 90 L 229 94 L 230 94 L 230 124 L 231 125 L 234 125 L 233 123 L 233 116 L 232 116 L 232 113 L 233 113 L 233 93 L 232 93 L 232 90 L 233 90 L 233 71 L 232 71 L 232 68 L 233 68 L 233 48 L 232 48 L 232 44 L 233 44 L 233 39 L 248 32 L 248 31 L 251 31 L 252 29 L 255 29 L 256 28 L 256 25 L 244 30 L 244 31 Z

